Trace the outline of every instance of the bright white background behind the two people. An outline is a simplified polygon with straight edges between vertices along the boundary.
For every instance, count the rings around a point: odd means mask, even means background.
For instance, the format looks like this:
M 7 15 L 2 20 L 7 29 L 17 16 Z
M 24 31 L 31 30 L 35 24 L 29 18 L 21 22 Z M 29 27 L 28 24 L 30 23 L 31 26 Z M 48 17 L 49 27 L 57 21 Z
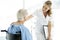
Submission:
M 42 7 L 46 0 L 25 0 L 25 9 L 28 13 L 33 13 L 36 9 Z M 52 0 L 53 23 L 52 40 L 60 40 L 60 0 Z M 16 14 L 19 9 L 23 8 L 23 0 L 0 0 L 0 30 L 7 29 L 10 24 L 17 20 Z M 30 20 L 26 22 L 26 26 L 31 28 Z M 0 36 L 5 33 L 0 32 Z

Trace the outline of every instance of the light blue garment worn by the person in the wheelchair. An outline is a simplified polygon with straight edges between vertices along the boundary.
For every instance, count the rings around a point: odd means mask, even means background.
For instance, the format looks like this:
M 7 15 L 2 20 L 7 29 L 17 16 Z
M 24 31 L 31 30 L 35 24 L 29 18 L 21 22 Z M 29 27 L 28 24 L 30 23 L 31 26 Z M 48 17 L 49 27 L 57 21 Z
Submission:
M 8 33 L 11 34 L 16 34 L 16 32 L 18 31 L 21 31 L 22 40 L 32 40 L 32 35 L 23 24 L 20 25 L 11 24 L 11 26 L 8 28 Z

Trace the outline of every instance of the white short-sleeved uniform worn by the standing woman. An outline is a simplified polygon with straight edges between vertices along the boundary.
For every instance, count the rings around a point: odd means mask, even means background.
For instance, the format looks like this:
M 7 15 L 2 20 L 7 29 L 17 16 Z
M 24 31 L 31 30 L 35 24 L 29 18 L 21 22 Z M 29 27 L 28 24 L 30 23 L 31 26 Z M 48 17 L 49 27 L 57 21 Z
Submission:
M 33 16 L 34 16 L 34 21 L 33 21 L 34 26 L 32 26 L 33 37 L 35 37 L 35 35 L 41 35 L 40 39 L 43 39 L 44 38 L 43 25 L 48 25 L 48 21 L 51 21 L 51 17 L 47 15 L 47 17 L 45 18 L 42 13 L 42 10 L 36 10 L 33 13 Z M 33 38 L 33 40 L 35 40 L 35 38 Z

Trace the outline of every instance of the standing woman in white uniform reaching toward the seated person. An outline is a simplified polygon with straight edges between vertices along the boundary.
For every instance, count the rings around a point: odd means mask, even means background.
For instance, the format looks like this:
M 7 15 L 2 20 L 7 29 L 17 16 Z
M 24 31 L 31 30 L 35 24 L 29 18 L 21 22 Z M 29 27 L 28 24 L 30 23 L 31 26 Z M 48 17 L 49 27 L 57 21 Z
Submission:
M 29 17 L 25 17 L 25 20 L 35 17 L 36 21 L 35 27 L 33 27 L 33 30 L 36 35 L 36 40 L 46 40 L 45 33 L 44 33 L 44 27 L 43 25 L 48 25 L 48 40 L 51 40 L 51 1 L 46 1 L 42 7 L 42 10 L 39 9 L 34 12 L 33 15 L 30 15 Z M 32 30 L 32 32 L 33 32 Z

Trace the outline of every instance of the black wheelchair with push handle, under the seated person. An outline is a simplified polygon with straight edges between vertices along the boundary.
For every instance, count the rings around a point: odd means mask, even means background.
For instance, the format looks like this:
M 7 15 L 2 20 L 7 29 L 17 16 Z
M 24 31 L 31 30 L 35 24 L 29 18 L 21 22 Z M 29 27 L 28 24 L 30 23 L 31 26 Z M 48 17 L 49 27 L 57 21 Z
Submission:
M 1 30 L 1 32 L 6 32 L 6 40 L 22 40 L 21 31 L 16 34 L 10 34 L 6 30 Z

